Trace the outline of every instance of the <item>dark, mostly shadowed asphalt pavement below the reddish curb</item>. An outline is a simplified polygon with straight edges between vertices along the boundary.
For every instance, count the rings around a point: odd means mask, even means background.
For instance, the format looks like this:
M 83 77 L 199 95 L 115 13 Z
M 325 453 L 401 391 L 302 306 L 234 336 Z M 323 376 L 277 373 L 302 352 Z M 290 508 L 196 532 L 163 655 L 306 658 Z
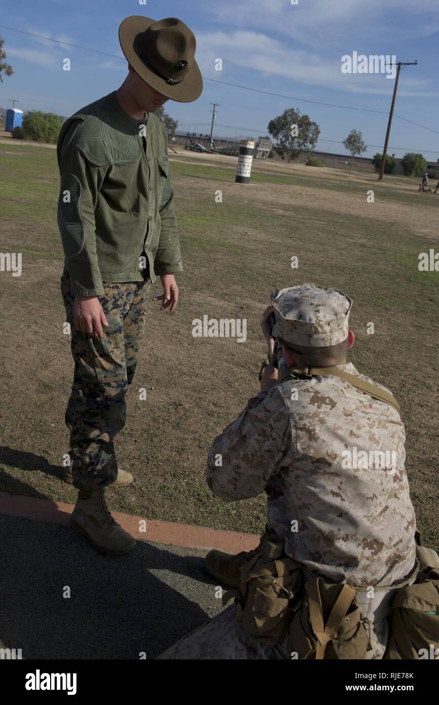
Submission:
M 194 549 L 106 556 L 69 527 L 4 515 L 0 546 L 0 648 L 25 659 L 155 658 L 221 608 Z

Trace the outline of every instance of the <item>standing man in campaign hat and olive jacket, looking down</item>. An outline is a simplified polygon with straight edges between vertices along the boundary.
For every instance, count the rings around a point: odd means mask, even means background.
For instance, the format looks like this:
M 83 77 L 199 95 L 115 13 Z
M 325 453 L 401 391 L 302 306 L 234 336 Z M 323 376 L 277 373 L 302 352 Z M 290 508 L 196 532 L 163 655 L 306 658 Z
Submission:
M 61 290 L 75 360 L 64 479 L 79 490 L 73 527 L 114 554 L 136 544 L 110 515 L 105 490 L 133 480 L 117 467 L 113 440 L 125 426 L 149 288 L 160 276 L 163 295 L 153 301 L 172 313 L 182 271 L 167 135 L 154 112 L 203 90 L 196 39 L 181 20 L 127 17 L 119 39 L 127 78 L 77 111 L 58 138 Z

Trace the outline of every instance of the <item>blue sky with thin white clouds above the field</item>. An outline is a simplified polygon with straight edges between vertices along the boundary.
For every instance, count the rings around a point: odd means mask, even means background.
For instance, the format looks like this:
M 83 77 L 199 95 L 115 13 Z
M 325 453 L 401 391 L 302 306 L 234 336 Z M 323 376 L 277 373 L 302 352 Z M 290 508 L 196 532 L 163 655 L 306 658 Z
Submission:
M 197 37 L 196 59 L 205 78 L 291 96 L 258 94 L 205 80 L 203 95 L 189 104 L 168 102 L 179 130 L 208 132 L 211 102 L 220 103 L 216 135 L 265 134 L 268 122 L 299 108 L 321 128 L 317 149 L 345 153 L 352 128 L 361 130 L 367 156 L 382 151 L 387 116 L 308 104 L 299 99 L 388 111 L 394 81 L 383 74 L 343 74 L 344 54 L 390 54 L 418 60 L 401 73 L 395 114 L 437 133 L 394 118 L 390 153 L 420 151 L 439 158 L 439 2 L 423 0 L 21 0 L 4 3 L 1 25 L 80 44 L 122 57 L 117 29 L 123 18 L 179 17 Z M 18 98 L 24 110 L 68 116 L 119 87 L 125 59 L 46 42 L 0 27 L 7 61 L 15 73 L 0 84 L 0 106 Z M 63 71 L 68 57 L 71 71 Z M 215 71 L 215 59 L 222 71 Z M 226 127 L 227 125 L 227 127 Z M 331 141 L 334 140 L 334 141 Z M 377 145 L 376 147 L 374 145 Z M 397 149 L 400 148 L 400 149 Z

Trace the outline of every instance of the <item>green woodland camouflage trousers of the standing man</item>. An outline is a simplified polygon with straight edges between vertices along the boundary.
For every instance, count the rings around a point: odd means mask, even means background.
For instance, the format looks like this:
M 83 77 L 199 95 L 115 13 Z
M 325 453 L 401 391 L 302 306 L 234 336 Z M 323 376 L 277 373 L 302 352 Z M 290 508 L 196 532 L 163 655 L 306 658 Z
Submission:
M 71 470 L 77 489 L 95 489 L 117 477 L 113 439 L 125 426 L 125 396 L 136 371 L 150 286 L 149 280 L 104 283 L 105 293 L 99 301 L 108 326 L 103 326 L 100 340 L 75 330 L 75 293 L 64 268 L 61 293 L 75 361 L 65 423 L 70 430 Z

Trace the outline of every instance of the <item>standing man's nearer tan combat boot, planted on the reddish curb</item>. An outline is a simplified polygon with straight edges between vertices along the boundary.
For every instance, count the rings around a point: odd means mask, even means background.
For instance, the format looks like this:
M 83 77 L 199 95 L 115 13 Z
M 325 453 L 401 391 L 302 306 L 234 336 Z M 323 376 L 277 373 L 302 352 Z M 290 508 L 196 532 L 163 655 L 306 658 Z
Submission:
M 72 527 L 103 553 L 121 556 L 136 546 L 136 541 L 113 519 L 104 496 L 105 489 L 79 490 L 72 512 Z

